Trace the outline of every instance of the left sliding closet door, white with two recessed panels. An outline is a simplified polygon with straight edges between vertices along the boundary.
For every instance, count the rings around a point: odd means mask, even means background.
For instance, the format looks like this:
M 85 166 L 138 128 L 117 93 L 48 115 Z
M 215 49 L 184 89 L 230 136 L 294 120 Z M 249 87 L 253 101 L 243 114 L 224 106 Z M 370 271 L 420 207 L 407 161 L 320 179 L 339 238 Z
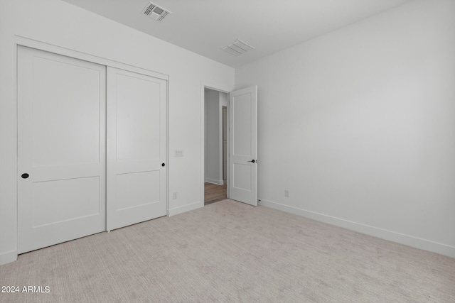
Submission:
M 102 65 L 18 48 L 18 253 L 105 231 L 105 81 Z

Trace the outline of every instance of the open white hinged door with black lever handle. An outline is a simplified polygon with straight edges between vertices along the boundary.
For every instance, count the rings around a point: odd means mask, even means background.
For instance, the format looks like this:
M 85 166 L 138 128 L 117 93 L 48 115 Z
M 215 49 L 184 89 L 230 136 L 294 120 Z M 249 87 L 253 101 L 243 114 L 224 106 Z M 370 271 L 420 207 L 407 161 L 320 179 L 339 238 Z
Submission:
M 229 198 L 257 205 L 257 87 L 230 92 Z

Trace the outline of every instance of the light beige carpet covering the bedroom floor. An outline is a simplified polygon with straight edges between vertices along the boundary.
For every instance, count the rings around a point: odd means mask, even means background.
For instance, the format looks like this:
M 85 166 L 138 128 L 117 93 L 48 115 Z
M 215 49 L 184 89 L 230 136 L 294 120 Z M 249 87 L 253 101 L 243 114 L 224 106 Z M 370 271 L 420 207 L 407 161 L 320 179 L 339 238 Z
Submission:
M 225 200 L 20 255 L 0 302 L 455 302 L 455 259 Z

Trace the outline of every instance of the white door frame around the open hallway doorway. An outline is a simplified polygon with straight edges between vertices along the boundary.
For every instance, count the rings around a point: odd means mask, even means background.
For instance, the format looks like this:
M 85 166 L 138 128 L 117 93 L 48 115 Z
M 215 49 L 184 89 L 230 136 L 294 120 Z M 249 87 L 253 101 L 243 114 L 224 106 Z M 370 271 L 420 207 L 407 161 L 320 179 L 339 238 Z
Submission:
M 211 89 L 217 92 L 224 92 L 228 94 L 228 167 L 229 167 L 229 93 L 233 90 L 227 87 L 221 88 L 220 85 L 210 84 L 209 82 L 200 82 L 200 207 L 204 206 L 205 202 L 205 90 L 204 89 Z M 229 169 L 226 172 L 226 184 L 227 184 L 227 198 L 229 199 Z

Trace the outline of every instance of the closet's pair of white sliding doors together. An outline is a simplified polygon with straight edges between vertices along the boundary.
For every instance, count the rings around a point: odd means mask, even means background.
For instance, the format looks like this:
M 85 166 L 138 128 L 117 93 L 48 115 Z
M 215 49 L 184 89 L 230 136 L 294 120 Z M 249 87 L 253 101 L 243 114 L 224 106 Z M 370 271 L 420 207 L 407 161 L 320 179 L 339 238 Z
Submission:
M 157 75 L 18 46 L 18 253 L 166 215 Z

